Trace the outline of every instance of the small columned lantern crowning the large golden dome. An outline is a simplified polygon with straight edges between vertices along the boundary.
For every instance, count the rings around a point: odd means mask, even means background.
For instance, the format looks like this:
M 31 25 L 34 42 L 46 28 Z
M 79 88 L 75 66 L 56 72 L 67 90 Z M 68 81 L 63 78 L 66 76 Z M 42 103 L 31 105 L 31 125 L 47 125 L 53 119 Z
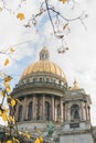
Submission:
M 41 52 L 40 52 L 40 61 L 45 61 L 45 59 L 49 59 L 50 57 L 50 54 L 49 54 L 49 51 L 47 48 L 44 46 Z

